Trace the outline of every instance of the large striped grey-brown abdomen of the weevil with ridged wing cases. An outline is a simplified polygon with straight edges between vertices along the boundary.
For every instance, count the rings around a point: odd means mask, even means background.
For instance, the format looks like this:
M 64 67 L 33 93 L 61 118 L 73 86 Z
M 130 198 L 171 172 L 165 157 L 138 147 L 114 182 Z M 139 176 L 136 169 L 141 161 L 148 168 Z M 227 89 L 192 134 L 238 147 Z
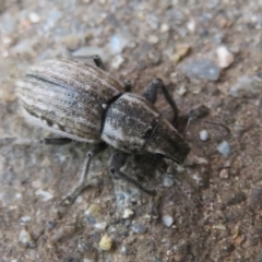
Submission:
M 45 61 L 19 85 L 28 120 L 86 142 L 100 141 L 105 105 L 124 92 L 100 69 L 71 60 Z

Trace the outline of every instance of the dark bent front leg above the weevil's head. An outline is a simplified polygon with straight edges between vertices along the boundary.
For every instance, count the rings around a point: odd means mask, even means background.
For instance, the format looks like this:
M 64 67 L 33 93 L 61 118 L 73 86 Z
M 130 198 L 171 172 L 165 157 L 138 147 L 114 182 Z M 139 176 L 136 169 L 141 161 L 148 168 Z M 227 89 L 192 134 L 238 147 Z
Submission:
M 176 103 L 174 102 L 171 95 L 169 94 L 167 87 L 163 83 L 160 79 L 154 79 L 152 83 L 147 86 L 146 91 L 144 92 L 143 96 L 151 102 L 152 104 L 155 104 L 157 99 L 157 90 L 162 90 L 166 100 L 170 105 L 172 111 L 174 111 L 174 119 L 172 123 L 175 127 L 177 127 L 178 123 L 178 108 Z

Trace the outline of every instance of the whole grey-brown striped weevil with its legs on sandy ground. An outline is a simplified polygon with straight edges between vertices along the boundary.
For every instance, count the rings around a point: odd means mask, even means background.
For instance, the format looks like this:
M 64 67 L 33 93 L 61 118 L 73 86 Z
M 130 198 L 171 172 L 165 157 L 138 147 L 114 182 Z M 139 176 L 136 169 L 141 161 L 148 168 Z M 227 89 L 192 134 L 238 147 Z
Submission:
M 187 158 L 190 147 L 154 106 L 162 90 L 174 110 L 178 109 L 160 79 L 155 79 L 143 95 L 131 93 L 131 83 L 120 83 L 104 70 L 98 56 L 92 57 L 96 67 L 73 60 L 47 60 L 35 66 L 19 84 L 19 97 L 24 116 L 61 139 L 43 139 L 44 144 L 66 144 L 72 140 L 94 143 L 87 153 L 78 187 L 63 204 L 73 203 L 87 184 L 92 157 L 107 147 L 117 152 L 110 162 L 110 172 L 142 191 L 156 195 L 120 168 L 129 154 L 166 157 L 177 164 Z

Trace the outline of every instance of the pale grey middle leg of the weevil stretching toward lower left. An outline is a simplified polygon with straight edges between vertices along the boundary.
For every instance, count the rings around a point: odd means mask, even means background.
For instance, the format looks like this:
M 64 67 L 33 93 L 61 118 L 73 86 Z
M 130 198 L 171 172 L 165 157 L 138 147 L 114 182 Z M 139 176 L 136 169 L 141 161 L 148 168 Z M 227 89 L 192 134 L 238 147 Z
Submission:
M 97 155 L 99 152 L 104 151 L 106 147 L 107 147 L 107 144 L 102 142 L 102 143 L 95 145 L 92 151 L 87 152 L 86 158 L 84 162 L 84 167 L 81 172 L 81 177 L 80 177 L 80 180 L 79 180 L 76 187 L 73 188 L 71 193 L 69 193 L 68 195 L 66 195 L 62 199 L 62 201 L 60 202 L 60 205 L 68 206 L 68 205 L 73 204 L 73 202 L 81 194 L 81 192 L 90 186 L 87 175 L 88 175 L 88 170 L 90 170 L 91 160 L 95 155 Z

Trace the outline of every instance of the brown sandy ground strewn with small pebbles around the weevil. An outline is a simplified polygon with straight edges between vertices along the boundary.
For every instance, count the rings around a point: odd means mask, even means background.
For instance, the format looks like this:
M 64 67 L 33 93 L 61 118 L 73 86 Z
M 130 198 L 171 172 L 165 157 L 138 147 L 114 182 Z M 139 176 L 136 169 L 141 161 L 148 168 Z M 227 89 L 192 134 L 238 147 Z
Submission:
M 62 209 L 90 145 L 3 145 L 51 135 L 21 116 L 28 67 L 93 53 L 133 92 L 162 78 L 181 115 L 204 105 L 205 120 L 231 130 L 190 124 L 191 153 L 172 175 L 130 157 L 124 171 L 162 195 L 156 214 L 154 199 L 112 181 L 112 148 L 92 162 L 94 187 Z M 0 57 L 0 261 L 262 261 L 261 0 L 2 0 Z M 163 95 L 157 106 L 170 117 Z

